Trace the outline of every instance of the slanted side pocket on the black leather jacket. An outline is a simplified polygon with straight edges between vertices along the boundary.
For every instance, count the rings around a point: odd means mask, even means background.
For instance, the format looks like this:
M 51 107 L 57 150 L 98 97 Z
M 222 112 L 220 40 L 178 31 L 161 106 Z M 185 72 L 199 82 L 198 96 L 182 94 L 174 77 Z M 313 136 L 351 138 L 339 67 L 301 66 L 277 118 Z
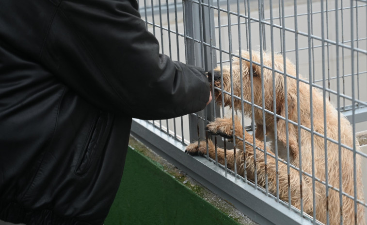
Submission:
M 89 137 L 79 156 L 75 172 L 84 175 L 101 155 L 111 130 L 111 118 L 108 113 L 100 112 L 93 121 Z

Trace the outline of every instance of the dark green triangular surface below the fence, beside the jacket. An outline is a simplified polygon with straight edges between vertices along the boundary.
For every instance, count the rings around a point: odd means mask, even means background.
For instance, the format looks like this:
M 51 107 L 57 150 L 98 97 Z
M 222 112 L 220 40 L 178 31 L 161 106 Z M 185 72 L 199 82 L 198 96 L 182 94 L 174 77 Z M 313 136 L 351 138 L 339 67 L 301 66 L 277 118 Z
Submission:
M 239 225 L 129 148 L 124 175 L 104 225 Z

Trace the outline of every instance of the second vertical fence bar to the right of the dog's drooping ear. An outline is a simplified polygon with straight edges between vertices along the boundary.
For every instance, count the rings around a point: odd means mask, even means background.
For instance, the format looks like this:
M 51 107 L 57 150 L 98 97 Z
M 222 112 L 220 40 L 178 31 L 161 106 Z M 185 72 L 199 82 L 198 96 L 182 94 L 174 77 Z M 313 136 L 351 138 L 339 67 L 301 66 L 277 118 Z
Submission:
M 312 70 L 311 70 L 311 0 L 307 0 L 307 30 L 308 30 L 308 69 L 310 80 L 310 114 L 311 114 L 311 158 L 312 158 L 312 202 L 313 208 L 316 208 L 315 192 L 315 149 L 314 149 L 314 125 L 313 125 L 313 104 L 312 104 Z M 313 210 L 313 222 L 316 224 L 316 210 Z

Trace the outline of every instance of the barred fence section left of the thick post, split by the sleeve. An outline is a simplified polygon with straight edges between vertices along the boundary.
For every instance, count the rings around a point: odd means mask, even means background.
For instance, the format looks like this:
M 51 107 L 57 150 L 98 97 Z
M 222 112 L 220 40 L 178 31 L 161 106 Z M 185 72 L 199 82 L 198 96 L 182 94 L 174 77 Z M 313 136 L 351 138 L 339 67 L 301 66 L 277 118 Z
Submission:
M 138 3 L 146 28 L 160 42 L 160 52 L 174 60 L 186 62 L 182 1 L 177 3 L 176 0 L 144 0 Z M 182 143 L 189 143 L 188 116 L 151 122 Z

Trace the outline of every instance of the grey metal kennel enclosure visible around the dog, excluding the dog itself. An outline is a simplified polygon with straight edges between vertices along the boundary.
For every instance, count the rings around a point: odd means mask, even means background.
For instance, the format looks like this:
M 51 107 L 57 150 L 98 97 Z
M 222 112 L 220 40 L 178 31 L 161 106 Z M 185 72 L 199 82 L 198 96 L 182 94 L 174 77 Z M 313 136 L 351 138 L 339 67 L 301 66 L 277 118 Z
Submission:
M 240 50 L 281 53 L 295 64 L 297 74 L 302 74 L 305 79 L 285 75 L 318 89 L 325 101 L 331 101 L 351 122 L 353 140 L 357 140 L 359 132 L 367 130 L 365 0 L 139 0 L 139 5 L 146 28 L 160 42 L 161 53 L 207 71 L 223 65 L 231 66 L 234 58 L 251 60 L 243 58 Z M 273 69 L 261 62 L 259 66 Z M 212 91 L 214 93 L 214 87 Z M 254 109 L 262 109 L 264 115 L 276 113 L 266 111 L 264 105 L 247 102 L 233 92 L 223 94 L 251 104 Z M 302 208 L 294 208 L 290 202 L 282 201 L 267 187 L 247 180 L 245 174 L 230 171 L 226 165 L 220 165 L 208 156 L 192 157 L 184 153 L 190 142 L 207 138 L 231 151 L 233 143 L 208 135 L 205 126 L 214 118 L 233 118 L 235 115 L 242 119 L 244 129 L 249 132 L 255 130 L 253 117 L 246 118 L 240 111 L 212 103 L 201 112 L 171 120 L 134 120 L 132 135 L 243 213 L 255 218 L 259 224 L 320 224 L 315 215 L 307 215 Z M 312 122 L 312 116 L 310 120 Z M 320 136 L 312 128 L 302 127 L 299 121 L 288 122 Z M 340 141 L 323 138 L 338 144 L 341 149 Z M 235 137 L 236 141 L 243 141 L 243 137 Z M 351 163 L 355 163 L 358 156 L 366 164 L 367 151 L 364 148 L 359 151 L 355 145 L 349 151 L 353 152 Z M 288 168 L 294 167 L 289 160 L 277 160 L 287 164 Z M 302 168 L 298 170 L 301 175 L 312 177 L 313 186 L 316 182 L 323 182 L 313 174 L 306 174 Z M 363 168 L 364 182 L 367 182 L 365 174 L 367 168 Z M 328 190 L 338 190 L 328 186 L 327 182 L 324 185 Z M 355 206 L 362 204 L 367 209 L 365 202 L 354 196 L 348 197 L 353 199 Z

